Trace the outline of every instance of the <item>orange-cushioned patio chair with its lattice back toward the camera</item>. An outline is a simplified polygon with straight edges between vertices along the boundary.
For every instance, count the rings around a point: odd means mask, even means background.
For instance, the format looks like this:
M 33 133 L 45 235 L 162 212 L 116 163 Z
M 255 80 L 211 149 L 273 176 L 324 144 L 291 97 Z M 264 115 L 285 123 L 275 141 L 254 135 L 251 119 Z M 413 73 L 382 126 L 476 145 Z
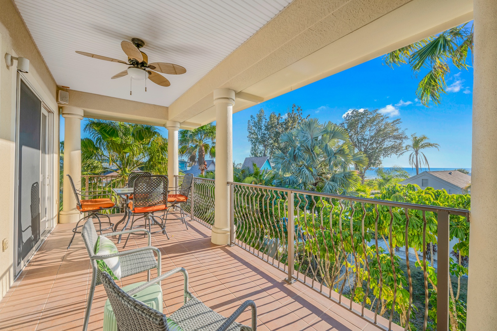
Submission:
M 162 232 L 166 235 L 167 239 L 169 236 L 166 232 L 166 222 L 163 217 L 154 215 L 156 211 L 166 210 L 167 204 L 167 177 L 164 175 L 152 175 L 152 176 L 138 176 L 134 181 L 133 189 L 133 200 L 129 202 L 128 207 L 130 213 L 128 214 L 128 220 L 133 215 L 142 215 L 131 222 L 130 229 L 145 227 L 149 228 L 150 233 Z M 134 226 L 135 222 L 144 219 L 145 223 L 143 225 Z M 160 221 L 157 221 L 159 218 Z M 152 225 L 158 225 L 160 230 L 152 232 Z M 124 247 L 128 243 L 130 235 L 126 238 Z

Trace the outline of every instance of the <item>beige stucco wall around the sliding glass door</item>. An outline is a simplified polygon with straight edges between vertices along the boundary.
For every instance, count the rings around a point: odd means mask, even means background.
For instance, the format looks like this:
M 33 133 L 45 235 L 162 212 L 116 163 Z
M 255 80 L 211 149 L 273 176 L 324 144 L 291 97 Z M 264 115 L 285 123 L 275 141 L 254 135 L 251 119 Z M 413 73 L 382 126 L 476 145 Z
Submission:
M 58 109 L 56 83 L 45 65 L 22 18 L 11 0 L 0 0 L 0 242 L 8 240 L 8 248 L 0 248 L 0 299 L 13 282 L 14 257 L 14 178 L 15 178 L 15 114 L 16 114 L 16 65 L 5 65 L 4 55 L 29 59 L 29 73 L 25 77 L 56 114 L 54 140 L 58 141 Z M 56 144 L 55 146 L 58 146 Z M 56 148 L 56 152 L 57 152 Z M 52 155 L 56 158 L 56 155 Z M 58 161 L 55 162 L 58 165 Z M 58 176 L 58 173 L 55 174 Z M 54 181 L 58 182 L 58 181 Z M 55 191 L 55 189 L 54 189 Z M 53 201 L 55 203 L 55 201 Z

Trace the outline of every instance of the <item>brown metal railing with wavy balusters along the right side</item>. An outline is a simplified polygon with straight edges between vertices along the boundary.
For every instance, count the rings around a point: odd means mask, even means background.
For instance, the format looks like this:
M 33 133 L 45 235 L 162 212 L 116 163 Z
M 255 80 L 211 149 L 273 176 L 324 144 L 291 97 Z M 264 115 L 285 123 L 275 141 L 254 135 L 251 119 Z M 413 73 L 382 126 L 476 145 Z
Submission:
M 191 215 L 211 226 L 214 181 L 194 182 Z M 434 322 L 430 292 L 435 290 L 436 329 L 449 330 L 449 224 L 454 217 L 469 221 L 469 210 L 228 185 L 230 242 L 285 271 L 288 282 L 308 284 L 384 330 L 413 330 L 414 314 L 424 316 L 422 330 L 427 330 Z M 427 261 L 427 243 L 433 241 L 438 245 L 437 269 Z M 410 255 L 417 261 L 410 261 Z M 413 279 L 414 268 L 423 281 Z M 414 289 L 419 288 L 424 307 L 414 308 Z

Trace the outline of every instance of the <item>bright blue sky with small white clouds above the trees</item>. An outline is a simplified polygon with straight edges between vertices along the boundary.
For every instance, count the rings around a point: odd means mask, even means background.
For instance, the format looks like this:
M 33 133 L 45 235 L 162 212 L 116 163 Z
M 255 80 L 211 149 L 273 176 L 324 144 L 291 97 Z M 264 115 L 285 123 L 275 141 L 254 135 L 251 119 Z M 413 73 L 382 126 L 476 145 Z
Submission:
M 284 114 L 292 104 L 302 107 L 304 115 L 321 122 L 342 122 L 349 109 L 379 109 L 391 119 L 400 118 L 407 134 L 425 134 L 430 141 L 440 144 L 440 151 L 425 150 L 430 167 L 471 167 L 471 126 L 473 100 L 473 69 L 459 70 L 450 67 L 447 94 L 439 106 L 429 108 L 416 101 L 418 79 L 409 66 L 383 65 L 382 57 L 352 67 L 292 92 L 265 101 L 233 115 L 233 158 L 243 162 L 250 154 L 247 139 L 247 122 L 263 108 Z M 82 130 L 85 121 L 82 121 Z M 167 135 L 165 128 L 160 128 Z M 82 136 L 85 134 L 82 132 Z M 64 123 L 61 121 L 61 140 Z M 392 156 L 383 160 L 383 166 L 409 167 L 408 156 Z

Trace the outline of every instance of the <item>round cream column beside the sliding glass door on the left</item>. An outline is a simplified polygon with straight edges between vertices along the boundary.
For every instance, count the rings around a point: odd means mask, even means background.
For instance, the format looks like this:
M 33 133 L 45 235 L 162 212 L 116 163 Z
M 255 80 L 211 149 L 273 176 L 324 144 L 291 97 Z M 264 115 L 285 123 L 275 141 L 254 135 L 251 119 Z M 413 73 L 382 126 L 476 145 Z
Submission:
M 63 210 L 60 212 L 59 223 L 75 223 L 81 218 L 76 209 L 76 198 L 73 188 L 66 175 L 73 178 L 76 189 L 81 189 L 81 120 L 83 109 L 62 107 L 64 123 L 64 190 Z

